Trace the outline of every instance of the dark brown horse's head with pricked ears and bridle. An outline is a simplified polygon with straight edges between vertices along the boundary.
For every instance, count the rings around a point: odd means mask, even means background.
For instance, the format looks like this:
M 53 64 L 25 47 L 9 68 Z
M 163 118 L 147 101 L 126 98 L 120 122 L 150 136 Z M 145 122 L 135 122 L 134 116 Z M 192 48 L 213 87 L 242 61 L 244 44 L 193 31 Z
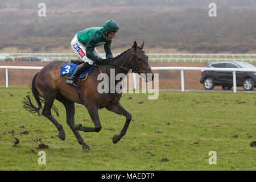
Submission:
M 150 66 L 148 65 L 148 56 L 143 51 L 144 40 L 141 47 L 138 47 L 136 41 L 133 44 L 133 56 L 130 61 L 130 69 L 134 73 L 142 75 L 146 81 L 152 81 L 154 79 L 154 74 Z

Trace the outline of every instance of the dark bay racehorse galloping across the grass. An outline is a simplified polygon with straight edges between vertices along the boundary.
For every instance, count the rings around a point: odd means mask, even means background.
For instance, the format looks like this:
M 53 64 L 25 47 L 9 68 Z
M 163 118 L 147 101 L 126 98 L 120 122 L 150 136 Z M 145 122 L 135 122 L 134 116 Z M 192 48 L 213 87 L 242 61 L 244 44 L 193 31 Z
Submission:
M 98 69 L 94 67 L 90 76 L 88 76 L 85 81 L 81 81 L 81 92 L 84 102 L 80 99 L 77 89 L 74 86 L 65 84 L 67 78 L 60 77 L 60 69 L 67 62 L 53 61 L 49 63 L 43 67 L 39 73 L 36 73 L 32 79 L 31 90 L 38 107 L 32 104 L 30 96 L 26 96 L 26 98 L 23 99 L 23 107 L 33 114 L 42 114 L 44 117 L 48 118 L 59 131 L 59 138 L 65 140 L 63 126 L 60 125 L 51 114 L 51 109 L 53 109 L 58 115 L 57 108 L 53 105 L 53 101 L 55 99 L 60 101 L 65 106 L 67 124 L 75 134 L 79 144 L 82 145 L 83 150 L 90 150 L 90 147 L 84 142 L 78 131 L 99 132 L 101 130 L 101 122 L 98 116 L 98 109 L 105 107 L 109 111 L 126 117 L 126 122 L 121 133 L 114 135 L 112 138 L 113 143 L 117 143 L 123 135 L 126 134 L 131 121 L 131 114 L 126 111 L 119 102 L 122 93 L 99 93 L 97 91 L 97 85 L 100 82 L 97 80 L 97 77 L 99 74 L 102 74 L 102 72 L 106 72 L 110 77 L 110 69 L 115 69 L 115 75 L 118 73 L 127 75 L 131 70 L 131 72 L 138 73 L 139 75 L 141 73 L 146 74 L 146 80 L 152 81 L 154 75 L 148 77 L 148 73 L 152 74 L 152 71 L 148 65 L 148 57 L 143 51 L 143 46 L 144 41 L 141 47 L 138 47 L 137 43 L 134 42 L 133 47 L 122 52 L 117 57 L 114 57 L 109 64 L 101 65 Z M 42 102 L 44 103 L 43 108 Z M 75 102 L 83 104 L 86 107 L 95 127 L 86 127 L 81 124 L 75 125 Z

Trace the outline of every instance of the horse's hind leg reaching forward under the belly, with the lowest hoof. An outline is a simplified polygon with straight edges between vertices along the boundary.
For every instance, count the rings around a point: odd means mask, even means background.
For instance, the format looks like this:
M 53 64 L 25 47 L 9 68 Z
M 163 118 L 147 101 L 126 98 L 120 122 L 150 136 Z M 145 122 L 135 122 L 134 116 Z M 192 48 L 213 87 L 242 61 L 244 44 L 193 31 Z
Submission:
M 67 123 L 68 126 L 73 131 L 73 134 L 75 134 L 77 141 L 79 144 L 82 145 L 82 150 L 90 150 L 90 147 L 84 142 L 81 135 L 79 134 L 79 131 L 75 130 L 75 102 L 68 100 L 67 98 L 57 95 L 56 99 L 60 101 L 66 109 L 66 115 L 67 115 Z

